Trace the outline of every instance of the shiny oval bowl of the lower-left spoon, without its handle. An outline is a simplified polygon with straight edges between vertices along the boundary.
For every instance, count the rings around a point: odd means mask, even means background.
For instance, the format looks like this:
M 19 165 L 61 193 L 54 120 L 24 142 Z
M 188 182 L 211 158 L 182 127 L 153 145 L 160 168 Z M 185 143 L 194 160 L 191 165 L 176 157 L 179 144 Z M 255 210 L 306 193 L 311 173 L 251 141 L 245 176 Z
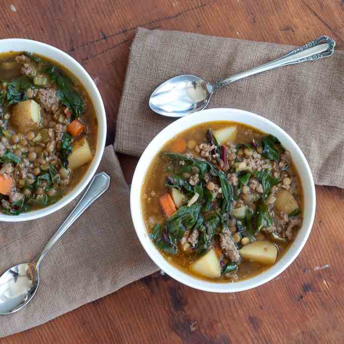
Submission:
M 34 263 L 15 265 L 0 277 L 0 314 L 22 309 L 33 298 L 38 287 L 38 271 Z

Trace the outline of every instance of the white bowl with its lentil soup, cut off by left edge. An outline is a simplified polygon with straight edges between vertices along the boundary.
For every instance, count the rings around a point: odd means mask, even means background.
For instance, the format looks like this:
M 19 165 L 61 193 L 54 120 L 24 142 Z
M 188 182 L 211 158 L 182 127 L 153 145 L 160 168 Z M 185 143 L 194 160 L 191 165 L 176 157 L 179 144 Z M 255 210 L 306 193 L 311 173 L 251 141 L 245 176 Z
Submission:
M 50 45 L 0 40 L 0 221 L 57 211 L 100 163 L 106 115 L 86 70 Z

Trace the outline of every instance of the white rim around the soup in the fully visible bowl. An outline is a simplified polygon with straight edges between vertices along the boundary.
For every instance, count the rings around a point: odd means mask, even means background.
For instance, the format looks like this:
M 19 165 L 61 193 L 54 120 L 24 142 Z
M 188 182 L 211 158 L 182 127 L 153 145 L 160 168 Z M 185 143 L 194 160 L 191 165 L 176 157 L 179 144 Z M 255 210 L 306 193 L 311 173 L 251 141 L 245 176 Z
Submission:
M 310 214 L 309 214 L 309 221 L 306 224 L 307 229 L 303 234 L 303 237 L 300 242 L 298 242 L 296 246 L 296 240 L 293 241 L 292 245 L 289 247 L 288 251 L 291 250 L 291 247 L 295 245 L 296 250 L 292 254 L 292 256 L 283 264 L 280 264 L 281 261 L 283 261 L 283 258 L 279 260 L 275 265 L 271 266 L 269 269 L 265 270 L 264 272 L 258 274 L 257 276 L 254 276 L 252 278 L 235 282 L 235 283 L 216 283 L 216 282 L 208 282 L 205 280 L 201 280 L 199 278 L 193 277 L 192 275 L 188 275 L 185 272 L 179 270 L 178 268 L 174 267 L 172 264 L 170 264 L 162 255 L 161 253 L 155 248 L 154 244 L 151 243 L 148 233 L 145 229 L 145 225 L 143 223 L 143 216 L 142 216 L 142 207 L 141 207 L 141 186 L 142 182 L 144 180 L 145 173 L 147 172 L 147 168 L 145 168 L 143 165 L 150 165 L 154 157 L 156 156 L 156 153 L 159 152 L 162 145 L 165 144 L 168 140 L 170 140 L 173 136 L 177 135 L 178 133 L 181 133 L 182 131 L 185 131 L 195 125 L 205 123 L 205 122 L 212 122 L 212 121 L 218 121 L 218 120 L 228 120 L 233 122 L 240 123 L 240 120 L 237 119 L 229 119 L 229 118 L 213 118 L 211 113 L 214 113 L 213 116 L 216 116 L 215 113 L 223 113 L 227 112 L 228 117 L 230 116 L 231 112 L 237 113 L 241 115 L 243 118 L 246 117 L 245 120 L 243 120 L 241 123 L 244 123 L 246 125 L 251 125 L 255 127 L 252 124 L 249 124 L 248 121 L 250 119 L 261 121 L 262 123 L 267 124 L 269 127 L 271 127 L 274 131 L 270 132 L 271 134 L 274 134 L 276 136 L 279 136 L 279 138 L 284 137 L 287 139 L 288 143 L 293 147 L 294 150 L 297 151 L 298 156 L 301 158 L 303 167 L 306 170 L 307 175 L 305 176 L 305 179 L 307 179 L 307 183 L 310 186 L 310 200 L 311 204 L 310 206 Z M 209 117 L 210 115 L 210 117 Z M 193 120 L 195 119 L 195 120 Z M 171 136 L 171 132 L 173 131 L 172 128 L 177 128 L 176 133 Z M 160 143 L 160 140 L 162 140 L 163 143 Z M 150 150 L 153 149 L 152 147 L 155 147 L 155 153 L 153 156 L 149 156 L 151 153 Z M 289 148 L 289 147 L 288 147 Z M 295 156 L 294 156 L 295 160 Z M 301 177 L 301 175 L 300 175 Z M 139 197 L 137 190 L 140 190 Z M 305 189 L 303 185 L 303 191 L 305 194 Z M 194 113 L 185 117 L 181 117 L 174 122 L 172 122 L 170 125 L 165 127 L 161 132 L 159 132 L 154 139 L 148 144 L 148 146 L 143 151 L 143 154 L 137 164 L 137 167 L 135 169 L 132 184 L 131 184 L 131 190 L 130 190 L 130 208 L 131 208 L 131 216 L 132 221 L 134 224 L 134 228 L 136 231 L 136 234 L 143 245 L 144 250 L 148 254 L 148 256 L 154 261 L 156 265 L 159 266 L 161 270 L 163 270 L 165 273 L 167 273 L 169 276 L 171 276 L 173 279 L 177 280 L 178 282 L 187 285 L 188 287 L 193 287 L 196 289 L 200 289 L 203 291 L 210 291 L 210 292 L 238 292 L 243 290 L 248 290 L 254 287 L 258 287 L 264 283 L 267 283 L 271 281 L 272 279 L 276 278 L 280 273 L 282 273 L 287 267 L 295 260 L 295 258 L 299 255 L 302 248 L 306 244 L 306 241 L 309 237 L 309 234 L 312 230 L 314 218 L 315 218 L 315 185 L 314 185 L 314 179 L 311 172 L 311 169 L 309 167 L 309 164 L 301 151 L 300 147 L 294 142 L 294 140 L 277 124 L 273 123 L 272 121 L 245 111 L 245 110 L 239 110 L 235 108 L 213 108 L 213 109 L 207 109 L 199 111 L 198 113 Z M 304 216 L 305 218 L 305 216 Z M 305 221 L 305 220 L 304 220 Z M 303 227 L 305 226 L 305 223 L 303 224 Z M 302 229 L 303 229 L 302 227 Z M 300 229 L 301 231 L 301 229 Z M 300 232 L 298 233 L 298 235 Z M 148 240 L 147 240 L 148 239 Z M 154 249 L 153 249 L 153 247 Z M 285 257 L 285 256 L 284 256 Z M 274 271 L 273 271 L 274 270 Z M 270 272 L 269 272 L 270 271 Z M 252 281 L 250 283 L 250 281 Z M 244 284 L 244 285 L 243 285 Z

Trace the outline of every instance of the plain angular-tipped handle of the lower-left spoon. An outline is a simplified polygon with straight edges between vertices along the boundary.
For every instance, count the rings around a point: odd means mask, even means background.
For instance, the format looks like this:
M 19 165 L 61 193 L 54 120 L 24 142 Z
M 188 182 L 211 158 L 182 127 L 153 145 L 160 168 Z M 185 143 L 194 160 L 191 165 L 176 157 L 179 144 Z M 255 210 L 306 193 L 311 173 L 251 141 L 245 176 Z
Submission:
M 97 173 L 89 183 L 83 197 L 80 199 L 78 204 L 75 206 L 73 211 L 64 220 L 63 224 L 54 236 L 50 239 L 48 244 L 45 246 L 41 254 L 34 261 L 36 269 L 48 251 L 53 247 L 57 240 L 62 234 L 74 223 L 74 221 L 95 201 L 97 200 L 110 186 L 110 176 L 105 172 Z

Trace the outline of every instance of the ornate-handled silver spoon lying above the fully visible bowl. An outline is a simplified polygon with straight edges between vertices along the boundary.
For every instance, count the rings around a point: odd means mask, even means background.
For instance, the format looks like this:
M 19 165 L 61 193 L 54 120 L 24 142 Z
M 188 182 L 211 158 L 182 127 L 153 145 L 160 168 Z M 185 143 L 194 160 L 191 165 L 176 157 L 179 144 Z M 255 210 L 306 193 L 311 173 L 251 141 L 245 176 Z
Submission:
M 321 36 L 283 57 L 246 72 L 232 75 L 215 84 L 207 83 L 195 75 L 180 75 L 155 89 L 149 98 L 149 107 L 157 114 L 169 117 L 189 115 L 205 109 L 213 93 L 222 86 L 266 70 L 331 56 L 335 45 L 336 42 L 333 39 Z

